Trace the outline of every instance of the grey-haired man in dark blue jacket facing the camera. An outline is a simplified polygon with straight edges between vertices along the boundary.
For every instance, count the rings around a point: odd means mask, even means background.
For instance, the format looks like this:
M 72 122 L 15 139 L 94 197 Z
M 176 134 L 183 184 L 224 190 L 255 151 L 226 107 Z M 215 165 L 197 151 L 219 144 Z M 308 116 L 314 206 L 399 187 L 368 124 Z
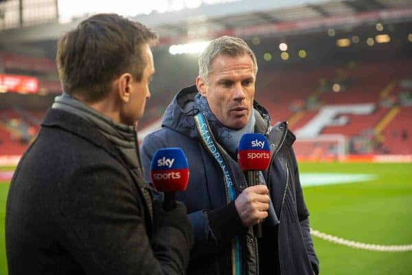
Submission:
M 195 236 L 187 274 L 318 274 L 291 147 L 295 136 L 286 122 L 272 127 L 254 101 L 255 54 L 242 39 L 222 36 L 198 63 L 196 85 L 176 94 L 163 127 L 140 148 L 146 180 L 157 148 L 181 147 L 187 156 L 190 181 L 177 195 Z M 258 186 L 247 186 L 237 162 L 244 133 L 263 133 L 271 143 L 271 165 Z M 260 222 L 257 239 L 251 227 Z

